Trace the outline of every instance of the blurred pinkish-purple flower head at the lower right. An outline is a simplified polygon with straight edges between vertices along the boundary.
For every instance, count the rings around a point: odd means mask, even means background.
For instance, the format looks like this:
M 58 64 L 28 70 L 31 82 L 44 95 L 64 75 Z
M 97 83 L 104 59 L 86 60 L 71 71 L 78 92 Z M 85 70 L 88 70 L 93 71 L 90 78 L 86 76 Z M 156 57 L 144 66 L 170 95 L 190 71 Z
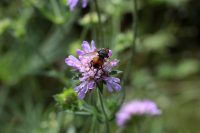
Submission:
M 123 126 L 132 116 L 144 115 L 160 115 L 161 111 L 157 108 L 156 104 L 151 100 L 133 100 L 124 104 L 119 112 L 116 114 L 116 122 L 118 126 Z

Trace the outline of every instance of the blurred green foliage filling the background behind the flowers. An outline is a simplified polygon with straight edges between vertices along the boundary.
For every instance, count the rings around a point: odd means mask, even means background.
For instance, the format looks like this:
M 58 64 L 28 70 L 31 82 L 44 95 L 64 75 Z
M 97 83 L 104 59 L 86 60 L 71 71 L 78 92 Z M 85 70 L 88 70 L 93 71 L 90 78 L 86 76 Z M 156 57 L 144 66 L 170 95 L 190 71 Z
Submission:
M 92 2 L 70 12 L 65 0 L 1 0 L 0 132 L 88 132 L 91 117 L 58 110 L 53 96 L 58 94 L 56 100 L 65 104 L 62 89 L 76 83 L 64 59 L 75 54 L 82 40 L 94 39 L 97 47 L 109 47 L 113 58 L 120 60 L 119 70 L 124 72 L 120 77 L 128 79 L 122 81 L 125 101 L 153 99 L 163 111 L 143 123 L 145 132 L 198 133 L 200 2 L 138 0 L 138 4 L 139 37 L 132 53 L 131 0 L 99 0 L 104 38 L 99 37 Z M 130 60 L 133 64 L 127 66 Z M 111 95 L 107 94 L 109 108 L 118 98 Z M 112 132 L 118 130 L 114 119 L 110 125 Z

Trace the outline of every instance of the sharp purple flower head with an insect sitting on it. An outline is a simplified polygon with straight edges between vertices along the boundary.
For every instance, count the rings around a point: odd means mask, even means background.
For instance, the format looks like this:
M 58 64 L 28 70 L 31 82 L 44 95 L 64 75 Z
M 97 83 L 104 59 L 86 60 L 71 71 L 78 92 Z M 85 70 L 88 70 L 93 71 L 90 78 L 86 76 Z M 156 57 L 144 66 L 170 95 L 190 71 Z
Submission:
M 78 59 L 70 55 L 65 59 L 65 63 L 81 74 L 81 77 L 79 77 L 80 84 L 74 88 L 74 91 L 78 93 L 80 99 L 83 99 L 86 93 L 94 89 L 99 82 L 105 83 L 110 92 L 113 92 L 113 90 L 121 90 L 120 79 L 109 75 L 112 68 L 117 66 L 118 60 L 110 61 L 109 58 L 107 58 L 102 68 L 94 68 L 91 65 L 92 59 L 97 56 L 97 49 L 94 41 L 91 41 L 91 45 L 89 45 L 87 41 L 83 41 L 82 50 L 77 49 L 76 53 Z M 112 51 L 109 50 L 108 56 L 110 57 L 111 55 Z

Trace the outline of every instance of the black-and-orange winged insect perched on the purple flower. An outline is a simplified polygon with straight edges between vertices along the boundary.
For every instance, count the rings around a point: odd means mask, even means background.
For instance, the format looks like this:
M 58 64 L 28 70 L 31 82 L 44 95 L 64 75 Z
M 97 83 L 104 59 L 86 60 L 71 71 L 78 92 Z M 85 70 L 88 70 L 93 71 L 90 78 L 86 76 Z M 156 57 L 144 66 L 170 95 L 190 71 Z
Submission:
M 92 58 L 90 62 L 91 67 L 102 69 L 104 62 L 109 58 L 109 49 L 101 48 L 95 52 L 86 53 L 84 56 Z

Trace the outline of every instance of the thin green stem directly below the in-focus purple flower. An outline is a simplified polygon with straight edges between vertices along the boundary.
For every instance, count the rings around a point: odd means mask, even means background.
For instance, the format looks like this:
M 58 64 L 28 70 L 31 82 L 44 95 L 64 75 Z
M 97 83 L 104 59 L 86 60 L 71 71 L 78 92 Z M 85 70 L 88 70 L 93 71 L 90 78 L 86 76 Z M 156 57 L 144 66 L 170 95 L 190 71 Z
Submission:
M 103 111 L 103 114 L 104 114 L 104 117 L 105 117 L 105 125 L 106 125 L 106 133 L 109 133 L 110 129 L 109 129 L 109 120 L 108 120 L 108 116 L 106 114 L 106 111 L 105 111 L 105 108 L 104 108 L 104 105 L 103 105 L 103 99 L 102 99 L 102 95 L 101 95 L 101 88 L 99 87 L 98 85 L 98 94 L 99 94 L 99 100 L 100 100 L 100 104 L 101 104 L 101 108 L 102 108 L 102 111 Z

